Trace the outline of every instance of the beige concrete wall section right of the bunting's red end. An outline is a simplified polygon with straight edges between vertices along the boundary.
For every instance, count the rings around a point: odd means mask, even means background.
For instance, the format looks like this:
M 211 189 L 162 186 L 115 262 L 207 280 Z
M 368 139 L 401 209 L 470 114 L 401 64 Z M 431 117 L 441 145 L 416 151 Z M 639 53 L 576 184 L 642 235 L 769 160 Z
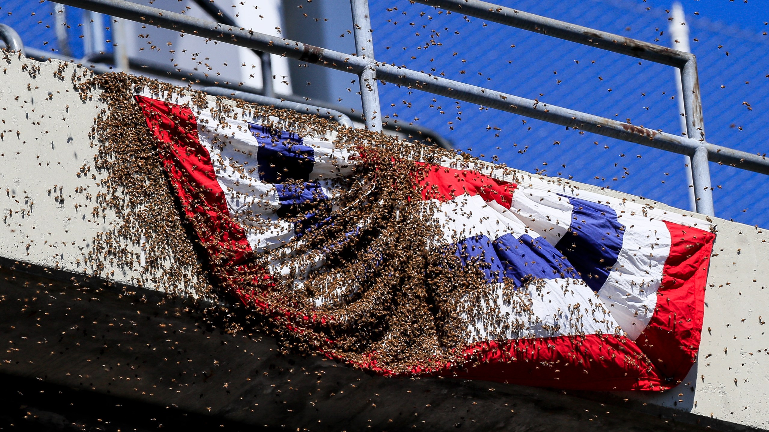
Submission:
M 769 233 L 714 221 L 697 364 L 673 390 L 631 397 L 769 430 Z

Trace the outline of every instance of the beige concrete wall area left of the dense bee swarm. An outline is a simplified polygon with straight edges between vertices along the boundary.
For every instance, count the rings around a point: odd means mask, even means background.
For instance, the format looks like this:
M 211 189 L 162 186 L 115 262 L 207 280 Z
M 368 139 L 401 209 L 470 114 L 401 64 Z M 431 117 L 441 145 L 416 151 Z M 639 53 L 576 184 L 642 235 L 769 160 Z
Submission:
M 120 224 L 114 214 L 92 217 L 106 173 L 92 169 L 96 149 L 88 134 L 106 107 L 96 98 L 82 101 L 75 90 L 73 77 L 91 74 L 87 68 L 2 55 L 0 256 L 83 273 L 96 234 Z M 125 241 L 141 254 L 141 238 Z M 160 272 L 142 271 L 138 261 L 133 269 L 104 264 L 117 283 L 158 287 Z M 167 264 L 175 265 L 173 257 Z

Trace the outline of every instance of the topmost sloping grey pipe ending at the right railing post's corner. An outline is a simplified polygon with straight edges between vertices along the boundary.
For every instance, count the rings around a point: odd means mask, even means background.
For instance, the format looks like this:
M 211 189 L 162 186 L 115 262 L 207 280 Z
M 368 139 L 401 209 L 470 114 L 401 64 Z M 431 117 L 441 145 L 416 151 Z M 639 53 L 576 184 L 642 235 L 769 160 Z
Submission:
M 662 45 L 624 38 L 620 35 L 600 32 L 594 28 L 574 25 L 479 0 L 414 0 L 414 2 L 663 65 L 681 67 L 691 58 L 691 54 L 687 52 L 680 52 Z

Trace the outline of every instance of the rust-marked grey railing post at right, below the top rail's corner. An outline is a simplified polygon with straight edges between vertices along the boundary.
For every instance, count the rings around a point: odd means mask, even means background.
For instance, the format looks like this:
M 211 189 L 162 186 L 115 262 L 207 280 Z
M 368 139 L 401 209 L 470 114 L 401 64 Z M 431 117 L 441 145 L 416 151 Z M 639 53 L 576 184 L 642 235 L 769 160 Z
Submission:
M 711 169 L 707 161 L 707 149 L 704 147 L 705 126 L 702 117 L 700 80 L 697 77 L 697 59 L 694 58 L 694 55 L 681 68 L 681 88 L 684 92 L 687 135 L 702 144 L 691 156 L 691 176 L 697 213 L 714 216 Z

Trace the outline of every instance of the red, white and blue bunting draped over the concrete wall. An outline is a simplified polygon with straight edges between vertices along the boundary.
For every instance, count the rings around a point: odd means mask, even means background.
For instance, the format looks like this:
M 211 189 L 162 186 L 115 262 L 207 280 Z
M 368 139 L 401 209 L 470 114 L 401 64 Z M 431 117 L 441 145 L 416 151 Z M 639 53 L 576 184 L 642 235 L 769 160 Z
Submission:
M 215 108 L 185 101 L 136 100 L 223 285 L 320 353 L 384 375 L 578 390 L 664 390 L 694 362 L 715 237 L 707 222 L 528 174 L 513 182 L 501 168 L 444 156 L 410 155 L 402 164 L 411 167 L 413 184 L 385 184 L 382 173 L 401 158 L 382 158 L 370 143 L 302 136 L 238 115 L 223 121 Z M 376 194 L 343 199 L 366 188 Z M 388 188 L 401 191 L 403 207 L 383 216 L 377 209 Z M 351 214 L 360 216 L 345 219 Z M 452 341 L 424 348 L 451 352 L 436 361 L 416 356 L 391 367 L 375 348 L 383 345 L 345 342 L 358 341 L 355 332 L 386 339 L 398 321 L 388 311 L 417 295 L 408 283 L 393 283 L 389 297 L 365 289 L 376 272 L 383 281 L 406 280 L 398 268 L 381 271 L 388 245 L 377 245 L 380 228 L 372 221 L 388 218 L 403 219 L 404 230 L 408 218 L 435 227 L 424 228 L 428 238 L 409 253 L 444 254 L 415 272 L 451 282 L 428 287 L 434 294 L 427 299 L 414 297 L 424 307 L 409 313 L 440 323 L 431 330 L 435 340 Z M 321 231 L 333 234 L 323 244 L 315 235 Z M 361 244 L 368 245 L 365 259 Z M 355 271 L 343 271 L 341 262 Z M 474 275 L 473 288 L 457 294 L 453 287 L 462 283 L 451 272 Z M 309 306 L 282 302 L 278 286 L 311 297 Z M 355 314 L 329 306 L 354 302 Z

